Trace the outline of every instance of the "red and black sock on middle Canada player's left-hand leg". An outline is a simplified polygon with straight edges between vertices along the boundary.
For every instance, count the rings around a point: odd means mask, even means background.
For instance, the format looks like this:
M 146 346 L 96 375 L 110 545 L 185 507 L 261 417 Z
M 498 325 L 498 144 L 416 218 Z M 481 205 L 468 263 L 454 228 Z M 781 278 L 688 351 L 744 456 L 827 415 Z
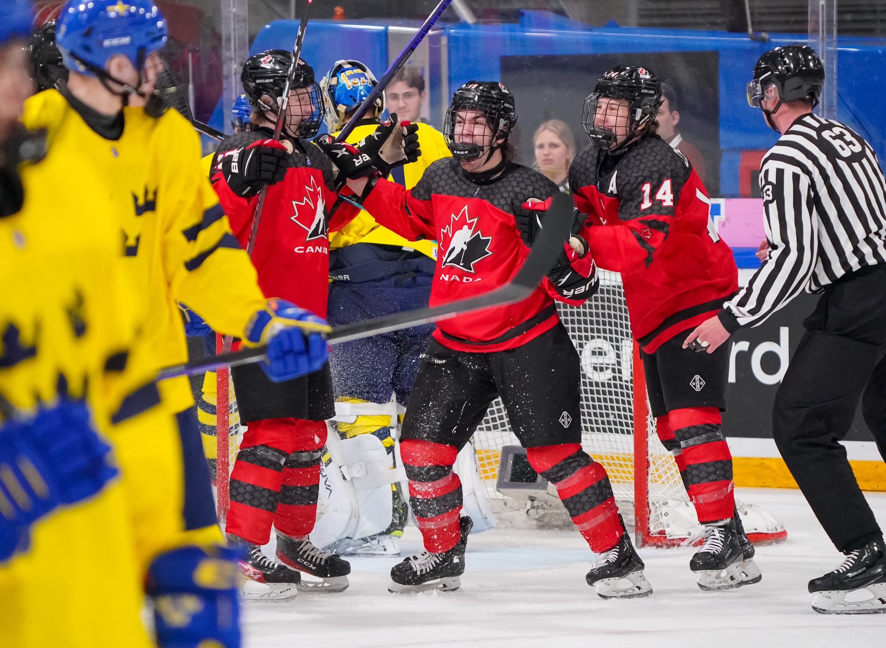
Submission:
M 405 439 L 400 457 L 409 480 L 412 512 L 429 552 L 447 552 L 462 537 L 462 482 L 452 470 L 455 445 Z

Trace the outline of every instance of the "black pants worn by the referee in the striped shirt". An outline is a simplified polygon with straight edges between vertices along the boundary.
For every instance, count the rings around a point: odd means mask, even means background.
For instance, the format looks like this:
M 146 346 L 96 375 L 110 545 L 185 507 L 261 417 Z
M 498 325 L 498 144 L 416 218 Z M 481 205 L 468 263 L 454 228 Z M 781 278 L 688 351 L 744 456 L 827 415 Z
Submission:
M 886 366 L 874 371 L 886 343 L 886 269 L 828 286 L 803 325 L 775 397 L 773 436 L 821 526 L 850 552 L 881 532 L 838 442 L 867 386 L 880 421 L 871 431 L 886 449 Z

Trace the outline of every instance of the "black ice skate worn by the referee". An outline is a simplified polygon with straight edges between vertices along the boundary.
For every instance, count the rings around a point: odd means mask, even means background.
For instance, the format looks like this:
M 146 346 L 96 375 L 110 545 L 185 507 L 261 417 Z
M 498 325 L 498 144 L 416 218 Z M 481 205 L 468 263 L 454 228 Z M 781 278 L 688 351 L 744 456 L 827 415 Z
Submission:
M 882 537 L 850 552 L 834 571 L 809 582 L 820 614 L 886 613 L 886 544 Z

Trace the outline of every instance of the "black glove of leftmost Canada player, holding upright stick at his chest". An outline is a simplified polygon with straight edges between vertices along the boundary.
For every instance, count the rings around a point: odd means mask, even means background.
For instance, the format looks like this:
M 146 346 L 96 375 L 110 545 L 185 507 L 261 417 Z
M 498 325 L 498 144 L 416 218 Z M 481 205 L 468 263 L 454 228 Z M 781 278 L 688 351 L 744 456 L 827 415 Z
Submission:
M 243 149 L 227 151 L 218 161 L 231 191 L 253 197 L 266 184 L 282 181 L 289 167 L 289 150 L 275 140 L 258 140 Z

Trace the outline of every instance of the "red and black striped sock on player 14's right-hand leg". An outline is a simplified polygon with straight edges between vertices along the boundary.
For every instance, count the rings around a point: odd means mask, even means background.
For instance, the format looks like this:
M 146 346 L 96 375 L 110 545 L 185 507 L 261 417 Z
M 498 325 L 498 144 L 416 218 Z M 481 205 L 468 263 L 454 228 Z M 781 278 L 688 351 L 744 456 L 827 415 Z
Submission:
M 687 407 L 668 413 L 686 462 L 689 498 L 698 521 L 726 520 L 734 513 L 732 453 L 720 429 L 717 407 Z

